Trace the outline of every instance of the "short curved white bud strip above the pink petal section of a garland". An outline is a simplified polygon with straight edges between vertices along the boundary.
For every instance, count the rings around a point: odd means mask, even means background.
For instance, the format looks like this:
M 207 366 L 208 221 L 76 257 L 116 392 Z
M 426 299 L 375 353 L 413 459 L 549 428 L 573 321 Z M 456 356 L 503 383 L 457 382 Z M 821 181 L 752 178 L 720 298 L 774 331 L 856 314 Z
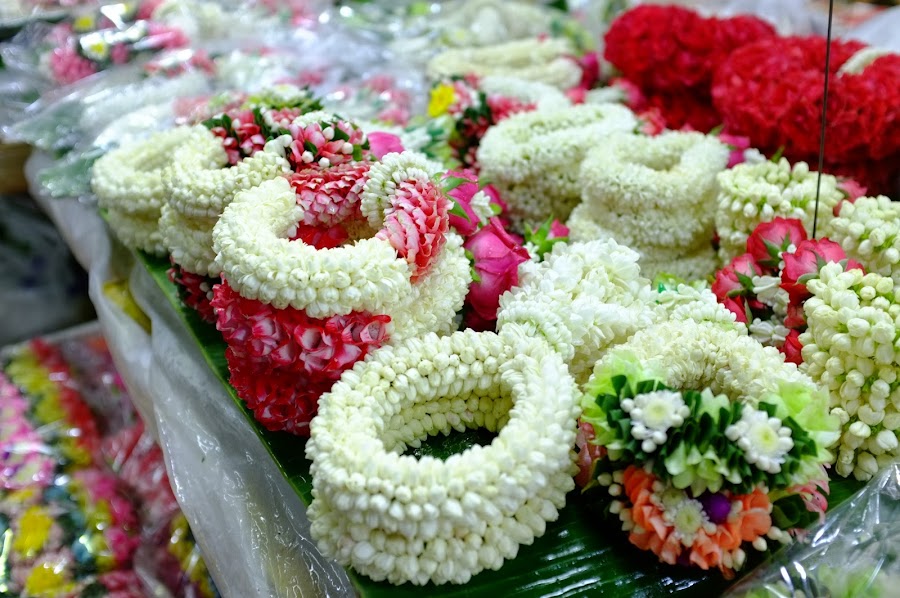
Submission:
M 404 181 L 429 181 L 442 167 L 415 152 L 391 153 L 372 164 L 360 193 L 359 209 L 373 228 L 381 228 L 384 210 L 397 185 Z

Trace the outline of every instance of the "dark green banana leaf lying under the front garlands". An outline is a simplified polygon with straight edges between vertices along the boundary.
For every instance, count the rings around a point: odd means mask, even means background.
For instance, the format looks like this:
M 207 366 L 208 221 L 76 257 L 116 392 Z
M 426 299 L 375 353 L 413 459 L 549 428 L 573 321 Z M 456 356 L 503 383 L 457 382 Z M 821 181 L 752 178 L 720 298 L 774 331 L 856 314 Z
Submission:
M 181 316 L 201 347 L 203 356 L 213 369 L 229 396 L 241 408 L 260 442 L 304 503 L 312 501 L 312 477 L 309 461 L 304 457 L 305 439 L 282 432 L 269 432 L 256 422 L 243 401 L 228 384 L 225 362 L 225 342 L 214 326 L 203 322 L 185 307 L 178 291 L 166 274 L 169 262 L 165 259 L 138 254 L 140 264 L 147 268 L 167 299 Z M 139 266 L 140 267 L 140 266 Z M 437 457 L 461 452 L 472 444 L 490 442 L 487 432 L 467 432 L 436 437 L 423 443 L 411 454 L 430 454 Z M 830 507 L 853 495 L 862 484 L 853 480 L 835 479 L 831 483 Z M 751 551 L 752 552 L 752 551 Z M 754 558 L 754 555 L 748 555 Z M 762 561 L 756 556 L 752 565 Z M 725 580 L 718 571 L 674 567 L 660 563 L 655 555 L 632 546 L 624 532 L 608 523 L 599 506 L 579 491 L 570 494 L 559 519 L 547 525 L 547 531 L 531 546 L 523 546 L 518 556 L 506 562 L 499 571 L 485 571 L 462 586 L 441 585 L 425 588 L 405 584 L 393 586 L 371 581 L 352 570 L 350 579 L 363 598 L 421 598 L 421 596 L 622 596 L 653 597 L 678 594 L 680 596 L 709 597 L 721 595 L 736 580 Z

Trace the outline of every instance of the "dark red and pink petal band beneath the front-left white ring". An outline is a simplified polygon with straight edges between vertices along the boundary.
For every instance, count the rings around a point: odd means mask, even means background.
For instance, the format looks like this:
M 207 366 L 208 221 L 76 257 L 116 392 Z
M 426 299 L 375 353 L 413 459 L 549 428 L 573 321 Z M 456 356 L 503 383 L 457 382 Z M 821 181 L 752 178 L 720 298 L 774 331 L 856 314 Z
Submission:
M 310 318 L 245 299 L 227 282 L 215 286 L 212 305 L 238 396 L 267 429 L 301 435 L 309 433 L 319 396 L 384 343 L 390 322 L 363 312 Z

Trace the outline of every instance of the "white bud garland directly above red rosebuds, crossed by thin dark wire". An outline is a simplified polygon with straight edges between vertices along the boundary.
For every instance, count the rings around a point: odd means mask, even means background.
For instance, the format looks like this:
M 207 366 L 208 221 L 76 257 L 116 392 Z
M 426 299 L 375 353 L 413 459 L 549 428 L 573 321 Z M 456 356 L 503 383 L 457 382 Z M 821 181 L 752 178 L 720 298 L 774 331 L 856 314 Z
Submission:
M 810 172 L 806 162 L 794 167 L 785 158 L 775 162 L 738 164 L 719 174 L 719 198 L 716 230 L 719 233 L 719 257 L 723 262 L 744 253 L 747 238 L 762 222 L 777 216 L 797 218 L 812 231 L 816 209 L 818 173 Z M 819 196 L 817 235 L 830 238 L 834 206 L 844 198 L 837 179 L 822 174 Z

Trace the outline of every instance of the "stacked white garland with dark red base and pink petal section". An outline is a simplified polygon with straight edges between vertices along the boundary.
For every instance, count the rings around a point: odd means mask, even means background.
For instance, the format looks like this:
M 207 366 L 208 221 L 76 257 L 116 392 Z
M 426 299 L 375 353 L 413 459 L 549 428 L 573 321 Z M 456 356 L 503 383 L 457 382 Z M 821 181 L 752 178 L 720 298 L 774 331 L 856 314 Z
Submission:
M 452 331 L 471 282 L 427 160 L 342 166 L 364 184 L 306 195 L 331 173 L 301 170 L 238 193 L 213 232 L 231 383 L 272 430 L 308 433 L 319 396 L 388 340 Z

